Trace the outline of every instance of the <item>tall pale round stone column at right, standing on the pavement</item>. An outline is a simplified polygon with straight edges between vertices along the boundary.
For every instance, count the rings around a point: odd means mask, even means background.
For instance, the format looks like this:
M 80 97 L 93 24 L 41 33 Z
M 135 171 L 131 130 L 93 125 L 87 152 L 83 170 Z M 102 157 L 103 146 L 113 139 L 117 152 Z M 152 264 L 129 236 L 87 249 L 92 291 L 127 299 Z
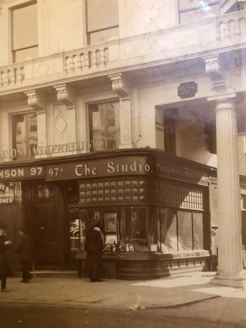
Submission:
M 245 289 L 235 108 L 235 98 L 216 100 L 218 271 L 211 282 Z

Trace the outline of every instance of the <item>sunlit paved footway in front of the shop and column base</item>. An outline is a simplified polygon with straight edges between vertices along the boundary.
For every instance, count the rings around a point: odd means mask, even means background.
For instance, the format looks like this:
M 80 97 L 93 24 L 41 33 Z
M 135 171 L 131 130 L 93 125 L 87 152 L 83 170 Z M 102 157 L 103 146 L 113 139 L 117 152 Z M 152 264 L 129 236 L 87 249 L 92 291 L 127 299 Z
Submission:
M 9 277 L 10 293 L 0 293 L 0 306 L 60 306 L 81 309 L 163 309 L 169 315 L 246 326 L 246 290 L 210 283 L 215 272 L 179 273 L 153 280 L 34 277 L 20 283 Z M 238 325 L 237 325 L 238 324 Z

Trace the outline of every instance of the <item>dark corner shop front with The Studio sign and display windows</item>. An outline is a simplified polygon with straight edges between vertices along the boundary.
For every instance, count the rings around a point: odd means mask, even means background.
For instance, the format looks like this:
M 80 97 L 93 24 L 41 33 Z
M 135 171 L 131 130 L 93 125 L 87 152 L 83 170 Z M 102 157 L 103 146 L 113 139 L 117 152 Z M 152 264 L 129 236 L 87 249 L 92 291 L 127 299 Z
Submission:
M 0 211 L 15 209 L 7 223 L 16 242 L 18 227 L 27 226 L 37 269 L 78 268 L 84 276 L 84 243 L 95 221 L 104 235 L 108 278 L 200 270 L 209 258 L 207 166 L 139 149 L 44 159 L 33 166 L 13 163 L 11 170 L 21 174 L 0 170 L 12 197 L 7 203 L 4 191 Z

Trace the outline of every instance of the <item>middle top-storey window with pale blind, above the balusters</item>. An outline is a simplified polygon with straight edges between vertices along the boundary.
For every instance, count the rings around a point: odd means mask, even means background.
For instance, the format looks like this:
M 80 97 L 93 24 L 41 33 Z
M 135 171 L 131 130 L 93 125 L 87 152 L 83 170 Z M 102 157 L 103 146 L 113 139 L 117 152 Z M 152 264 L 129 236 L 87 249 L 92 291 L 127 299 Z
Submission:
M 86 12 L 88 45 L 118 37 L 118 0 L 87 0 Z

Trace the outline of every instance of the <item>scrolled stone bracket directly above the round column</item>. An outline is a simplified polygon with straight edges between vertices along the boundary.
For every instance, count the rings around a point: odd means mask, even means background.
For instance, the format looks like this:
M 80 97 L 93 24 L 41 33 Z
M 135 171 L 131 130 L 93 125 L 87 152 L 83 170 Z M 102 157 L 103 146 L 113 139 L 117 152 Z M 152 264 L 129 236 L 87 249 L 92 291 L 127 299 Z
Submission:
M 219 55 L 203 57 L 206 63 L 206 73 L 211 78 L 214 90 L 224 89 L 223 68 Z

